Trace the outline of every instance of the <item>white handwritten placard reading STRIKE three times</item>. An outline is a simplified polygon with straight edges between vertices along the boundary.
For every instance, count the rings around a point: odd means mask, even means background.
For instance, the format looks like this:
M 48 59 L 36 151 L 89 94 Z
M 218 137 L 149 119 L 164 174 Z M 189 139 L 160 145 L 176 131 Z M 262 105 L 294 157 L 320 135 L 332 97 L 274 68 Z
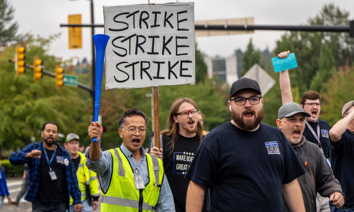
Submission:
M 103 11 L 106 89 L 195 83 L 193 2 Z

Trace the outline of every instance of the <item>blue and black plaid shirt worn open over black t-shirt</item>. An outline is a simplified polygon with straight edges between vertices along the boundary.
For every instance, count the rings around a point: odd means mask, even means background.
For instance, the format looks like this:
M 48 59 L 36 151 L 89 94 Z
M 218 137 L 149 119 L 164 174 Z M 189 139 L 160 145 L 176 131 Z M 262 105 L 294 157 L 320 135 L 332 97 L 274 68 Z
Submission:
M 8 160 L 10 160 L 10 163 L 14 166 L 16 165 L 21 165 L 21 164 L 28 164 L 28 189 L 27 193 L 25 196 L 25 200 L 34 202 L 36 200 L 36 196 L 38 193 L 38 188 L 39 188 L 39 164 L 40 164 L 40 159 L 36 158 L 28 158 L 26 159 L 25 156 L 27 153 L 31 152 L 33 149 L 38 149 L 42 152 L 41 157 L 45 157 L 42 149 L 42 144 L 43 141 L 40 141 L 38 143 L 31 143 L 27 146 L 25 146 L 21 151 L 18 152 L 13 152 L 11 153 L 10 157 Z M 57 149 L 60 149 L 63 158 L 67 158 L 69 160 L 69 165 L 65 166 L 66 167 L 66 185 L 67 185 L 67 208 L 69 208 L 69 197 L 70 195 L 73 197 L 74 204 L 81 204 L 81 192 L 79 189 L 78 185 L 78 179 L 76 177 L 76 171 L 74 168 L 74 164 L 70 158 L 70 155 L 68 151 L 61 146 L 59 146 L 57 143 Z

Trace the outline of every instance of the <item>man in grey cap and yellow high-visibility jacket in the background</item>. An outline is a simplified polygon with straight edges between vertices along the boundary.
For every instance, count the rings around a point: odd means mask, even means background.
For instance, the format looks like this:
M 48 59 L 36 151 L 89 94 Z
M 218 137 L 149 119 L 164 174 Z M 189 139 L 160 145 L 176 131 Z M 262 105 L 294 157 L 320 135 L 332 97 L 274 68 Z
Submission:
M 67 135 L 64 146 L 70 154 L 70 158 L 74 163 L 76 176 L 78 177 L 79 189 L 81 191 L 82 212 L 92 212 L 98 207 L 98 192 L 97 174 L 85 165 L 85 155 L 79 152 L 80 137 L 74 133 Z M 87 194 L 91 194 L 88 196 Z M 89 199 L 90 198 L 90 199 Z M 89 204 L 92 198 L 92 208 Z M 90 201 L 89 201 L 90 200 Z M 70 196 L 69 212 L 74 212 L 73 198 Z

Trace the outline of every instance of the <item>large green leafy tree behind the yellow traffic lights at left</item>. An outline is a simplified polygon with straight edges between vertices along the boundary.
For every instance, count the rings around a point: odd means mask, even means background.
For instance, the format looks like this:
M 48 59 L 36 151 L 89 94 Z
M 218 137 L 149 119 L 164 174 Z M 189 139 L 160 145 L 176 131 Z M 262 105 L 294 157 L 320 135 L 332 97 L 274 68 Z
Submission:
M 54 37 L 25 36 L 26 63 L 32 64 L 33 57 L 38 56 L 46 70 L 54 72 L 55 65 L 65 65 L 45 50 Z M 91 99 L 81 95 L 78 88 L 57 89 L 55 78 L 47 75 L 34 83 L 31 69 L 26 69 L 23 76 L 17 76 L 14 64 L 8 62 L 14 54 L 15 46 L 5 47 L 0 54 L 0 147 L 17 150 L 31 140 L 41 140 L 42 124 L 49 120 L 58 123 L 59 133 L 74 132 L 87 140 Z

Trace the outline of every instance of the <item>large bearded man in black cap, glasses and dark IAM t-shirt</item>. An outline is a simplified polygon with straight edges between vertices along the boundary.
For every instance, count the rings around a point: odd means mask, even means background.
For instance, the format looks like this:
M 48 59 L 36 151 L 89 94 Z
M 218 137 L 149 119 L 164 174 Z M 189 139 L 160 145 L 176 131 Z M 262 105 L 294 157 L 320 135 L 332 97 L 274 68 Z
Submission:
M 296 179 L 305 171 L 285 135 L 261 123 L 261 94 L 255 80 L 232 84 L 232 120 L 205 136 L 185 174 L 187 212 L 201 211 L 205 188 L 212 212 L 283 212 L 282 191 L 291 211 L 305 211 Z

